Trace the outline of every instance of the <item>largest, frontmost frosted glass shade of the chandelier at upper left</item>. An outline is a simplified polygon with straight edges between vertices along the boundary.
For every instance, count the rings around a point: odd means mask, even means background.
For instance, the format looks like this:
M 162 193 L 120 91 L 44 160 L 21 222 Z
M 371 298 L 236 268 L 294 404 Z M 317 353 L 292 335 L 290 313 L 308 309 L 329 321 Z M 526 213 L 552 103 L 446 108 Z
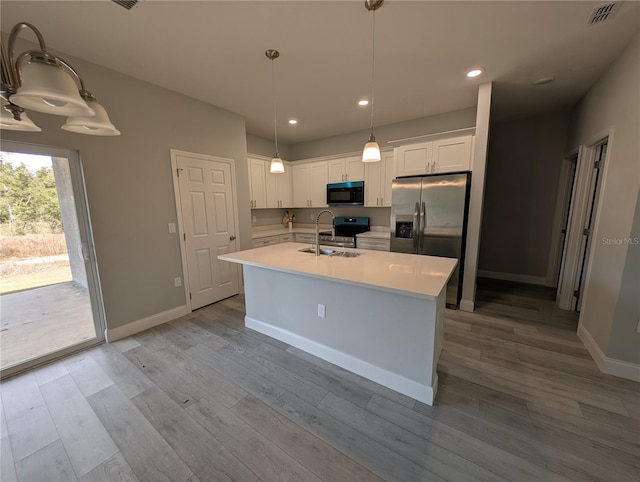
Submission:
M 22 84 L 11 102 L 25 109 L 64 116 L 93 116 L 95 112 L 80 97 L 71 76 L 55 65 L 27 62 L 20 73 Z

